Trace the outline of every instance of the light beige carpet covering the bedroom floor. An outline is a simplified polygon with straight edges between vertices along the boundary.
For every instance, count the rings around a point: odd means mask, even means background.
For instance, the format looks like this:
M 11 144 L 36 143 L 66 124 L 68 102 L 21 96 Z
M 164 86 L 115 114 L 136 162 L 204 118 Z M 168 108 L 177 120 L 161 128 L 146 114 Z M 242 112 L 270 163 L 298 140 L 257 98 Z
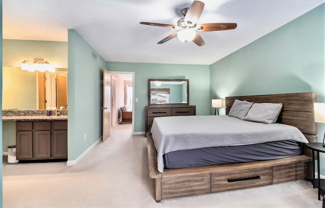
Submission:
M 321 207 L 307 181 L 156 203 L 146 138 L 131 134 L 131 124 L 118 125 L 75 166 L 4 165 L 4 207 Z

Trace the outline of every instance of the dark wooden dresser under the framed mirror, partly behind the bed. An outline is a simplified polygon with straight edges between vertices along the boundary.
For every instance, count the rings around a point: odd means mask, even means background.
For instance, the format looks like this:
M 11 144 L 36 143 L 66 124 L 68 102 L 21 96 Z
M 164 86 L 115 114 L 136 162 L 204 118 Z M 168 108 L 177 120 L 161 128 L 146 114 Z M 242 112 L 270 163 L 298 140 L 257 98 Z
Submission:
M 150 132 L 153 118 L 160 116 L 196 115 L 195 105 L 146 106 L 146 133 Z

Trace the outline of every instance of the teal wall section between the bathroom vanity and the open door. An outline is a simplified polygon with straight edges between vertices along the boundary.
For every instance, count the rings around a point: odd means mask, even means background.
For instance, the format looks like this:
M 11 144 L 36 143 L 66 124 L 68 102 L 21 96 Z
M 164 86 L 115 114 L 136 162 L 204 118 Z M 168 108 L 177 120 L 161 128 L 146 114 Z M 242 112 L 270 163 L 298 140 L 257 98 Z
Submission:
M 102 137 L 104 59 L 74 30 L 68 31 L 68 160 Z M 86 141 L 84 141 L 86 135 Z

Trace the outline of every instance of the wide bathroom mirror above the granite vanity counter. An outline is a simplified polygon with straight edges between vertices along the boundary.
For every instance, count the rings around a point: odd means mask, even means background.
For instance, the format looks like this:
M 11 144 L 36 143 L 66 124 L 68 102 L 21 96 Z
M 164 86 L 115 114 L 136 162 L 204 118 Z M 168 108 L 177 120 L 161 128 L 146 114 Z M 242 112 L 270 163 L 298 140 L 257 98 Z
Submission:
M 60 106 L 68 109 L 68 69 L 55 70 L 42 74 L 20 67 L 3 67 L 3 109 L 42 110 Z M 62 96 L 63 103 L 57 102 L 58 96 Z

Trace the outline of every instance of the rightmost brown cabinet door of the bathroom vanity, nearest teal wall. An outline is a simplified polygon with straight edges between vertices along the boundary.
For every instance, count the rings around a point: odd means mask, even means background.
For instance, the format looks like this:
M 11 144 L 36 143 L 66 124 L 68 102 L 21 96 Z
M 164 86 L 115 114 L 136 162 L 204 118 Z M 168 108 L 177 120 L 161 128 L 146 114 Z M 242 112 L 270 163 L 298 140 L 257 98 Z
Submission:
M 53 131 L 52 158 L 68 158 L 68 131 Z

